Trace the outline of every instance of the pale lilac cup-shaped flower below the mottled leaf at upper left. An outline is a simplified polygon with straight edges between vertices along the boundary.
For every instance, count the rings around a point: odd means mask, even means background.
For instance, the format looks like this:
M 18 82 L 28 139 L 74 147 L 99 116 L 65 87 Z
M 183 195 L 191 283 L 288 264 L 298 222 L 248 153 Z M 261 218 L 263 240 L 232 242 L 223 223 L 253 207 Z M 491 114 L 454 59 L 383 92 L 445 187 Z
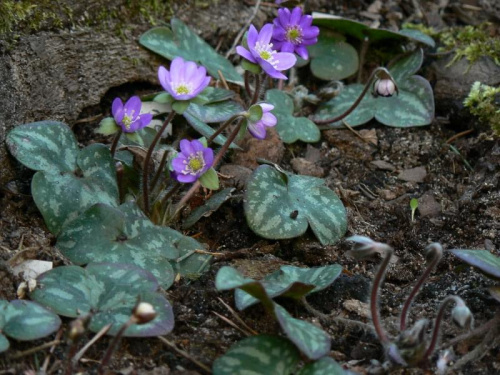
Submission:
M 192 61 L 184 61 L 176 57 L 170 64 L 170 72 L 160 66 L 158 78 L 162 87 L 174 97 L 175 100 L 189 100 L 194 98 L 210 83 L 207 70 Z

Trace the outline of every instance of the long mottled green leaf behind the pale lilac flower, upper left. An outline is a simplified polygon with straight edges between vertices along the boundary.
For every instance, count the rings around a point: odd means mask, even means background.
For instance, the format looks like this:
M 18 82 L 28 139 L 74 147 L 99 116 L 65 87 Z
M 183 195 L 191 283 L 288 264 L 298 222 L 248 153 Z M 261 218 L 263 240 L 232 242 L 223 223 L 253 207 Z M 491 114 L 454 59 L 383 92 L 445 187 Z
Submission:
M 172 18 L 171 27 L 172 31 L 167 27 L 155 27 L 144 33 L 139 43 L 169 60 L 180 56 L 185 60 L 201 63 L 212 77 L 218 78 L 220 70 L 227 81 L 243 83 L 242 77 L 229 60 L 219 55 L 180 19 Z

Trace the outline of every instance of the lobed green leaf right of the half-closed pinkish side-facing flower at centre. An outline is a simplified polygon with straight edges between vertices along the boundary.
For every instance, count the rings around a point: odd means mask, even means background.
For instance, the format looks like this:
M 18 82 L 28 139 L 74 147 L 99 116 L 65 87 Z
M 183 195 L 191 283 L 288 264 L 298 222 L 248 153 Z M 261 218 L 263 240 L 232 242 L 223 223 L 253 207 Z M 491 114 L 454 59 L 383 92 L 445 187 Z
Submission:
M 305 117 L 294 117 L 293 100 L 281 90 L 266 92 L 266 102 L 274 105 L 271 111 L 277 118 L 276 130 L 285 143 L 317 142 L 321 133 L 314 122 Z

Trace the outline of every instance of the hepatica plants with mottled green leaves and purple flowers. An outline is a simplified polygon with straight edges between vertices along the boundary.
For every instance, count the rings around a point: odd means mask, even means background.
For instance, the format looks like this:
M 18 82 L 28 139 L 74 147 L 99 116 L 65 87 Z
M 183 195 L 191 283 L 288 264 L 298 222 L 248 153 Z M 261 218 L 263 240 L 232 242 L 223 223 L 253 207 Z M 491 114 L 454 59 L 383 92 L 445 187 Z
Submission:
M 197 228 L 228 200 L 243 202 L 248 227 L 265 239 L 296 238 L 310 229 L 321 245 L 341 240 L 347 230 L 346 209 L 329 182 L 262 161 L 243 192 L 227 186 L 217 192 L 228 177 L 220 178 L 217 170 L 241 150 L 245 137 L 266 142 L 270 134 L 277 134 L 288 145 L 319 142 L 324 127 L 358 126 L 372 118 L 390 126 L 429 124 L 432 90 L 416 73 L 423 48 L 432 43 L 415 32 L 373 30 L 346 20 L 313 17 L 298 4 L 284 2 L 273 20 L 261 27 L 250 25 L 234 43 L 231 61 L 178 18 L 171 19 L 170 27 L 147 31 L 139 43 L 165 58 L 156 67 L 158 91 L 111 98 L 109 116 L 96 127 L 96 132 L 112 136 L 109 145 L 90 141 L 81 148 L 69 126 L 51 120 L 19 125 L 8 134 L 11 154 L 35 171 L 33 200 L 56 236 L 56 247 L 72 263 L 39 276 L 30 293 L 33 300 L 59 315 L 87 319 L 92 331 L 110 325 L 109 333 L 118 337 L 114 344 L 122 335 L 170 332 L 172 307 L 159 291 L 182 277 L 199 277 L 213 259 L 212 249 L 175 228 Z M 363 62 L 371 56 L 364 55 L 367 48 L 349 44 L 360 33 L 373 41 L 370 48 L 384 38 L 399 43 L 389 53 L 393 63 L 378 58 L 370 66 L 380 67 L 366 71 Z M 398 55 L 403 45 L 407 52 Z M 232 61 L 241 65 L 243 75 Z M 307 64 L 314 77 L 300 82 L 301 90 L 314 100 L 294 101 L 297 83 L 288 77 L 297 74 L 290 71 Z M 355 73 L 370 78 L 364 84 L 351 79 L 329 101 L 310 89 L 321 84 L 318 80 L 342 80 Z M 284 90 L 285 80 L 290 86 Z M 315 114 L 308 118 L 310 113 Z M 191 200 L 194 196 L 197 199 Z M 217 242 L 201 233 L 202 240 Z M 217 360 L 214 372 L 236 374 L 248 366 L 258 373 L 342 373 L 327 357 L 329 335 L 274 301 L 276 297 L 302 300 L 333 283 L 340 272 L 338 265 L 283 266 L 256 281 L 233 268 L 222 268 L 217 288 L 236 289 L 239 309 L 260 302 L 287 339 L 265 335 L 247 339 Z M 2 332 L 14 339 L 38 338 L 59 324 L 39 305 L 5 302 L 3 306 Z M 150 314 L 154 319 L 137 318 L 138 309 L 154 311 Z M 21 310 L 23 316 L 33 314 L 33 321 L 46 319 L 50 324 L 23 336 L 16 318 Z M 401 332 L 407 332 L 405 324 Z M 6 348 L 5 337 L 1 339 Z M 398 346 L 399 341 L 386 336 L 381 341 L 391 358 L 399 355 L 408 363 L 414 359 Z M 418 361 L 426 360 L 434 346 Z M 270 347 L 275 349 L 269 351 Z M 243 353 L 245 348 L 253 348 L 254 362 Z M 110 347 L 99 371 L 104 371 L 112 352 Z M 310 360 L 301 369 L 296 368 L 299 352 Z M 239 370 L 234 368 L 237 362 Z

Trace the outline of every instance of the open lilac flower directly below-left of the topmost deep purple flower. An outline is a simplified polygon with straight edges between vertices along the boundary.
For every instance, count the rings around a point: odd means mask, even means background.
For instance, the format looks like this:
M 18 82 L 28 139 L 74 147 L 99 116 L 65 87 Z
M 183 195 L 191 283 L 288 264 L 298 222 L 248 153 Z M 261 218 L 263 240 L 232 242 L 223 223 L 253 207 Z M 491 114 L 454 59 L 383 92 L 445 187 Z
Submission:
M 290 69 L 294 66 L 297 58 L 293 53 L 275 51 L 271 43 L 272 36 L 272 24 L 265 24 L 260 32 L 257 32 L 257 29 L 253 25 L 250 25 L 247 37 L 247 44 L 250 51 L 242 46 L 238 46 L 236 47 L 236 52 L 251 63 L 259 64 L 271 77 L 287 79 L 280 71 Z

